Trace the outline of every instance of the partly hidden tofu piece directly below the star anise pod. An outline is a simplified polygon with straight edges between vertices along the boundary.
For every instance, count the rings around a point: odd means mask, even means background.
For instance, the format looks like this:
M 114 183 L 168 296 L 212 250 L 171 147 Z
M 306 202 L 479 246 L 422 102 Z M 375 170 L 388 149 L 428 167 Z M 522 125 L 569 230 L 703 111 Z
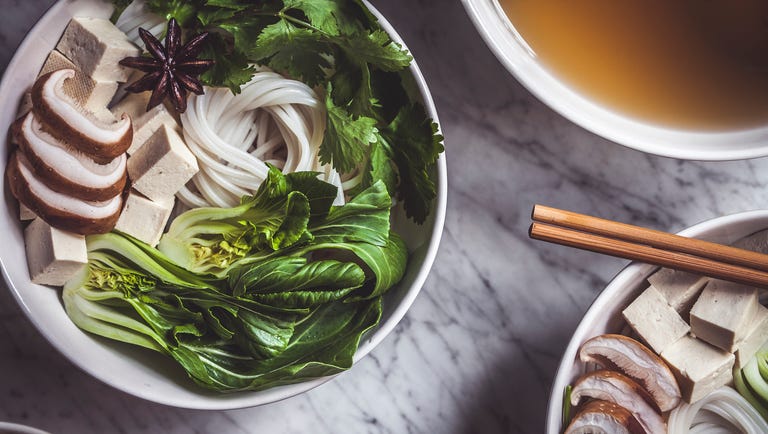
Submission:
M 116 117 L 125 113 L 133 120 L 133 142 L 126 151 L 128 155 L 135 154 L 163 125 L 181 133 L 181 127 L 165 105 L 146 111 L 150 95 L 149 92 L 130 94 L 112 108 Z

